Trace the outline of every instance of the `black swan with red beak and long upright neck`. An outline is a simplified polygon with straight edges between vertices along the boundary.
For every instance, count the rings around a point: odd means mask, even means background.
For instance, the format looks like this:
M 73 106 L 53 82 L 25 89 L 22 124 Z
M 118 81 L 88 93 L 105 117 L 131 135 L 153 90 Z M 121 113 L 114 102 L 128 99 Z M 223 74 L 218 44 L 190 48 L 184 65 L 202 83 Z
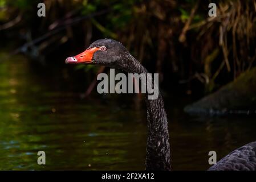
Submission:
M 116 40 L 100 39 L 92 43 L 86 51 L 68 57 L 70 64 L 97 64 L 117 68 L 127 73 L 148 73 L 127 49 Z M 152 79 L 153 82 L 153 79 Z M 161 94 L 147 103 L 147 170 L 170 170 L 170 146 L 168 121 Z M 256 170 L 256 142 L 251 142 L 234 150 L 209 170 Z

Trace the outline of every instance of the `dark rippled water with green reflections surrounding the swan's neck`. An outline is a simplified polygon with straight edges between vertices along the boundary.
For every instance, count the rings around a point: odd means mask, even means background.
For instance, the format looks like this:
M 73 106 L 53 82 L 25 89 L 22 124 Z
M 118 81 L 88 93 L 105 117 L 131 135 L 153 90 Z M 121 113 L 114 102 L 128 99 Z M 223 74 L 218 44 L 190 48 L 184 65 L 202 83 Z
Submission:
M 144 169 L 143 104 L 127 95 L 81 100 L 66 75 L 37 72 L 24 57 L 0 52 L 0 169 Z M 207 169 L 210 150 L 220 159 L 256 140 L 255 118 L 190 117 L 177 98 L 165 101 L 174 170 Z

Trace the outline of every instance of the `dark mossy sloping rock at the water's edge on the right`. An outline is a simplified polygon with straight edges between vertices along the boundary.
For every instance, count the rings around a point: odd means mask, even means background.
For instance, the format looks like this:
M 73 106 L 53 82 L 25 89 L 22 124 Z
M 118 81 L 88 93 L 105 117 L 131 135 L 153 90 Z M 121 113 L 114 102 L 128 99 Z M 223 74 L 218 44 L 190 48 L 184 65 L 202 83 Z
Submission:
M 184 108 L 195 114 L 256 114 L 256 68 Z

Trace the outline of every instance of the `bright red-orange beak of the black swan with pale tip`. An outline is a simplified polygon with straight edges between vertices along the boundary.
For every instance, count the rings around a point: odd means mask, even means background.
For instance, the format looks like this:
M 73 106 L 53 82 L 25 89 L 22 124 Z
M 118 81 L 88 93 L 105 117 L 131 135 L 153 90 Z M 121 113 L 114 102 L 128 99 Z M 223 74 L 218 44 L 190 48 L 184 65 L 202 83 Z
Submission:
M 74 57 L 68 57 L 65 63 L 66 64 L 92 63 L 92 57 L 94 56 L 94 52 L 99 49 L 100 49 L 99 47 L 86 49 L 86 51 L 79 53 L 79 55 L 76 55 Z

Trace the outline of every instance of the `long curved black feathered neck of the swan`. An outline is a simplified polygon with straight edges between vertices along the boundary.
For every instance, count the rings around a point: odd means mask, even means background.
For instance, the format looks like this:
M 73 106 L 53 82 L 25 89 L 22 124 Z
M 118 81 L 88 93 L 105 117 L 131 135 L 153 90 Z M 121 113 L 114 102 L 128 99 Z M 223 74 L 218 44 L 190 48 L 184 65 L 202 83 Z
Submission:
M 121 69 L 128 73 L 148 73 L 147 69 L 129 53 L 125 54 L 122 65 L 123 67 Z M 154 85 L 153 78 L 151 82 Z M 168 121 L 164 109 L 164 101 L 160 92 L 155 100 L 148 100 L 147 93 L 146 105 L 148 139 L 145 168 L 147 170 L 170 170 Z

